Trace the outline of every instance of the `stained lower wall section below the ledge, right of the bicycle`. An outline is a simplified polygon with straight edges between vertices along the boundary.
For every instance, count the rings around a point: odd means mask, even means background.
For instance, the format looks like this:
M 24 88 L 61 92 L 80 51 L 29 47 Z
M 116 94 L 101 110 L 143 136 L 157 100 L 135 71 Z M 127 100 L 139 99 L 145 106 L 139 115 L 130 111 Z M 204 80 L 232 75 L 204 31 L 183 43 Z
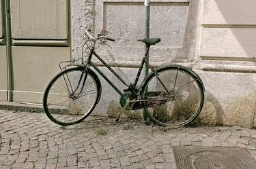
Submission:
M 255 73 L 230 73 L 197 69 L 205 85 L 201 112 L 208 124 L 255 126 Z

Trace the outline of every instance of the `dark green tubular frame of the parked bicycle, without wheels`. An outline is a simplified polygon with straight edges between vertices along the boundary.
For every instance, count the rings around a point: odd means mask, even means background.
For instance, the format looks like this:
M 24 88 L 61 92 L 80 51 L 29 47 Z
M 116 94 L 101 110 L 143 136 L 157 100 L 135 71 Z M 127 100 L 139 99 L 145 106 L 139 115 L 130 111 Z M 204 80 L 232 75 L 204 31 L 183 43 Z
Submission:
M 91 58 L 92 56 L 96 56 L 96 58 L 98 58 L 98 60 L 100 60 L 100 62 L 102 62 L 102 64 L 104 64 L 104 66 L 109 69 L 109 71 L 111 71 L 111 73 L 113 73 L 113 75 L 115 75 L 115 77 L 117 77 L 117 79 L 119 79 L 119 81 L 121 81 L 122 83 L 124 83 L 125 86 L 128 87 L 127 91 L 134 91 L 135 87 L 137 86 L 137 83 L 138 83 L 138 80 L 139 80 L 139 77 L 141 75 L 141 71 L 143 69 L 143 66 L 144 64 L 147 64 L 147 66 L 149 67 L 148 63 L 146 62 L 146 56 L 150 50 L 150 45 L 147 45 L 146 47 L 146 50 L 145 50 L 145 55 L 143 56 L 143 59 L 141 61 L 141 65 L 139 67 L 139 70 L 137 72 L 137 76 L 134 80 L 134 83 L 126 83 L 126 81 L 124 81 L 124 79 L 122 79 L 122 77 L 120 77 L 110 66 L 109 64 L 107 64 L 98 54 L 96 54 L 96 52 L 94 51 L 95 48 L 91 48 L 90 52 L 89 52 L 89 56 L 88 56 L 88 59 L 87 59 L 87 64 L 85 64 L 85 67 L 87 67 L 88 65 L 91 66 L 91 67 L 94 67 L 94 69 L 109 83 L 109 85 L 115 90 L 117 91 L 117 93 L 122 96 L 123 92 L 121 92 L 117 86 L 115 86 L 115 84 L 112 83 L 112 81 L 106 77 L 106 75 L 104 75 L 104 73 L 102 73 L 102 71 L 100 71 L 100 69 L 98 69 L 98 67 L 93 63 L 91 62 Z

